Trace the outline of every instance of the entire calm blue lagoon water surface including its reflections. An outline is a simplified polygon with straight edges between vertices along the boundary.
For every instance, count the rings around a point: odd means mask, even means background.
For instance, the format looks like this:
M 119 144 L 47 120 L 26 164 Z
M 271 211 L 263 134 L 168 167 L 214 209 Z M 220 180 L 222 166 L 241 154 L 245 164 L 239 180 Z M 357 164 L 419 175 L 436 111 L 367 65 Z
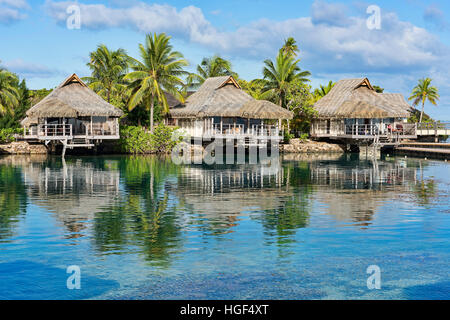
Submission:
M 449 186 L 412 158 L 3 157 L 0 299 L 449 299 Z

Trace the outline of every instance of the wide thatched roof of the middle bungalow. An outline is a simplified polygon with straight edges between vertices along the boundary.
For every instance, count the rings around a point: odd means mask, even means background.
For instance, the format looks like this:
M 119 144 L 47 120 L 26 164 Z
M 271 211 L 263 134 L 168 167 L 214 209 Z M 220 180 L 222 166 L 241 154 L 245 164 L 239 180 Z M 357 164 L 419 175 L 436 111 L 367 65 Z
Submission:
M 255 100 L 231 76 L 208 78 L 198 89 L 170 109 L 173 118 L 240 117 L 292 119 L 293 113 L 269 101 Z

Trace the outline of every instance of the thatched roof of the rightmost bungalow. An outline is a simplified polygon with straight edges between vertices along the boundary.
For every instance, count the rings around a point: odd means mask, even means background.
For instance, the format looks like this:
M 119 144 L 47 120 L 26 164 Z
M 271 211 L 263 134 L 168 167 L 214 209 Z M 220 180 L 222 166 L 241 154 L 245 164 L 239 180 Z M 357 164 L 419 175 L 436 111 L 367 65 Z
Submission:
M 314 105 L 319 118 L 406 118 L 411 106 L 400 93 L 377 93 L 367 78 L 338 81 Z

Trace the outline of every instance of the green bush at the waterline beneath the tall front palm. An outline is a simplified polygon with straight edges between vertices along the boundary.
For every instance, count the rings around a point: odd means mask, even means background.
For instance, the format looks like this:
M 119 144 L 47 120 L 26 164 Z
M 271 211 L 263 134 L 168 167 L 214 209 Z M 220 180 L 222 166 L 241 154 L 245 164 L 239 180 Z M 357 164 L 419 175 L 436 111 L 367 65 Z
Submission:
M 172 140 L 176 129 L 160 124 L 153 133 L 142 127 L 122 126 L 120 129 L 120 151 L 132 154 L 169 153 L 178 141 Z

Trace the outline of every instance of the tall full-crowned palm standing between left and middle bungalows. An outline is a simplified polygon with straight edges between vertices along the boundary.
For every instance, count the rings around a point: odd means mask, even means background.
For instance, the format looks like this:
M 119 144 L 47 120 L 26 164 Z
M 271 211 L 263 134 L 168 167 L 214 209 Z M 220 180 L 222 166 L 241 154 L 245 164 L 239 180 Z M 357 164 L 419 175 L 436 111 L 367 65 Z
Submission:
M 150 111 L 150 131 L 153 132 L 153 112 L 155 101 L 162 104 L 165 112 L 169 111 L 164 92 L 168 92 L 184 101 L 180 87 L 184 86 L 180 76 L 186 75 L 183 70 L 188 62 L 170 45 L 171 37 L 165 33 L 147 35 L 145 46 L 139 44 L 141 61 L 134 60 L 132 69 L 124 78 L 130 81 L 132 95 L 128 103 L 129 110 L 144 103 Z

